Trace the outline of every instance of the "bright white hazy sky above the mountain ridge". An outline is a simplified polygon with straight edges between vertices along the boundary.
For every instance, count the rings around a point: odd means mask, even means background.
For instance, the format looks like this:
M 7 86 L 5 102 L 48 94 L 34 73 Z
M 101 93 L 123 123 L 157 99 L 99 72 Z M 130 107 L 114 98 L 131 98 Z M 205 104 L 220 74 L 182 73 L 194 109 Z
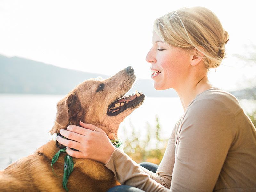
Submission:
M 108 75 L 131 65 L 137 77 L 150 78 L 145 57 L 153 21 L 185 6 L 209 8 L 230 35 L 227 58 L 210 72 L 210 81 L 228 91 L 246 87 L 244 78 L 255 77 L 256 66 L 245 67 L 232 54 L 246 54 L 244 44 L 256 44 L 255 7 L 249 0 L 0 0 L 0 54 Z

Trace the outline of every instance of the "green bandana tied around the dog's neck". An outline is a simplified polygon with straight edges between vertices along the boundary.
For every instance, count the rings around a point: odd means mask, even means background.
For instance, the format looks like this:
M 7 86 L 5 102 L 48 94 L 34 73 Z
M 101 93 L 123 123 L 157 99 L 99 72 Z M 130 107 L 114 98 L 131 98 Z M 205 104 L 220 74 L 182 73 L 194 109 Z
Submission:
M 117 148 L 122 149 L 122 141 L 120 140 L 110 140 L 111 143 L 116 146 Z M 58 160 L 60 153 L 66 153 L 66 148 L 60 149 L 52 158 L 52 171 L 53 171 L 53 164 Z M 62 180 L 62 187 L 68 191 L 67 183 L 68 183 L 68 177 L 73 171 L 74 163 L 72 160 L 72 157 L 70 155 L 66 155 L 64 158 L 64 172 L 63 172 L 63 180 Z M 54 171 L 53 171 L 54 172 Z

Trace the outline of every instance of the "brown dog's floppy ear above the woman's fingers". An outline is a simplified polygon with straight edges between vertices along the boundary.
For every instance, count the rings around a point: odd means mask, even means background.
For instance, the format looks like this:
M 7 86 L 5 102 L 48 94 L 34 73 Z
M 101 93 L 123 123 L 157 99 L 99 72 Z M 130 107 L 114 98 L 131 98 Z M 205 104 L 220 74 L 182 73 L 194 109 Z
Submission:
M 79 125 L 79 121 L 83 121 L 84 112 L 82 111 L 80 100 L 76 91 L 72 92 L 60 100 L 57 104 L 56 121 L 49 133 L 59 133 L 60 129 L 65 129 L 68 125 Z

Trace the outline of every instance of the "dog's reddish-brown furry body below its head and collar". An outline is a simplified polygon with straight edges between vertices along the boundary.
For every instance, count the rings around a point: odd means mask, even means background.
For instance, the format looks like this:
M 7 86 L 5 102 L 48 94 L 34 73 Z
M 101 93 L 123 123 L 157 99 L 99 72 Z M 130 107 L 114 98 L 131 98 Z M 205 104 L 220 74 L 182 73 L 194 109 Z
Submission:
M 55 142 L 50 141 L 33 155 L 24 157 L 0 171 L 1 191 L 65 191 L 62 187 L 64 156 L 51 167 Z M 49 150 L 48 150 L 49 149 Z M 57 148 L 56 148 L 57 151 Z M 53 155 L 52 155 L 53 156 Z M 74 170 L 68 178 L 68 190 L 107 191 L 118 185 L 114 174 L 103 164 L 90 159 L 74 158 Z

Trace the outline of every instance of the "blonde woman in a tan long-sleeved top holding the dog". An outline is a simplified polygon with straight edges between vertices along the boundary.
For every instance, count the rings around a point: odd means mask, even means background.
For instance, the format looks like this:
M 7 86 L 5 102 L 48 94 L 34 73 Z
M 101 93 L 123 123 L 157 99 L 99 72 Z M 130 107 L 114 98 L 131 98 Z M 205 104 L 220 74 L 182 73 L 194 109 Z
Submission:
M 84 150 L 67 147 L 67 153 L 100 161 L 121 184 L 133 186 L 109 191 L 256 191 L 255 127 L 236 97 L 207 77 L 224 58 L 228 40 L 216 15 L 204 7 L 181 8 L 155 20 L 146 56 L 154 87 L 175 89 L 184 109 L 156 173 L 113 146 L 100 128 L 83 140 L 72 134 L 69 138 Z M 80 125 L 95 130 L 92 124 Z M 79 128 L 72 131 L 86 135 L 87 129 Z M 65 137 L 69 133 L 61 132 Z

